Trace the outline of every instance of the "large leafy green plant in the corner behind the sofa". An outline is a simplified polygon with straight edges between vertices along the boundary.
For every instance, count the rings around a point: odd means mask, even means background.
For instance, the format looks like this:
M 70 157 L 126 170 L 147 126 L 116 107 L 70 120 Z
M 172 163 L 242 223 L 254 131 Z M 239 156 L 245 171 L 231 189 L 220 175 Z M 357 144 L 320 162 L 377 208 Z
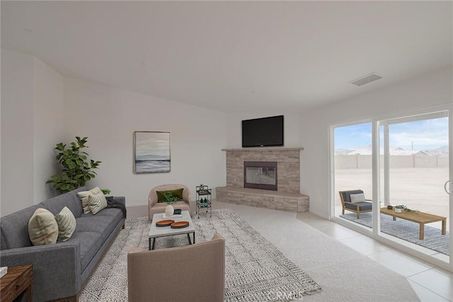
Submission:
M 59 151 L 57 160 L 63 166 L 61 175 L 53 175 L 46 184 L 53 184 L 54 189 L 61 193 L 66 193 L 84 186 L 86 181 L 96 177 L 96 172 L 100 161 L 88 160 L 88 153 L 81 151 L 86 146 L 88 138 L 76 136 L 76 142 L 71 142 L 69 147 L 59 142 L 56 150 Z

